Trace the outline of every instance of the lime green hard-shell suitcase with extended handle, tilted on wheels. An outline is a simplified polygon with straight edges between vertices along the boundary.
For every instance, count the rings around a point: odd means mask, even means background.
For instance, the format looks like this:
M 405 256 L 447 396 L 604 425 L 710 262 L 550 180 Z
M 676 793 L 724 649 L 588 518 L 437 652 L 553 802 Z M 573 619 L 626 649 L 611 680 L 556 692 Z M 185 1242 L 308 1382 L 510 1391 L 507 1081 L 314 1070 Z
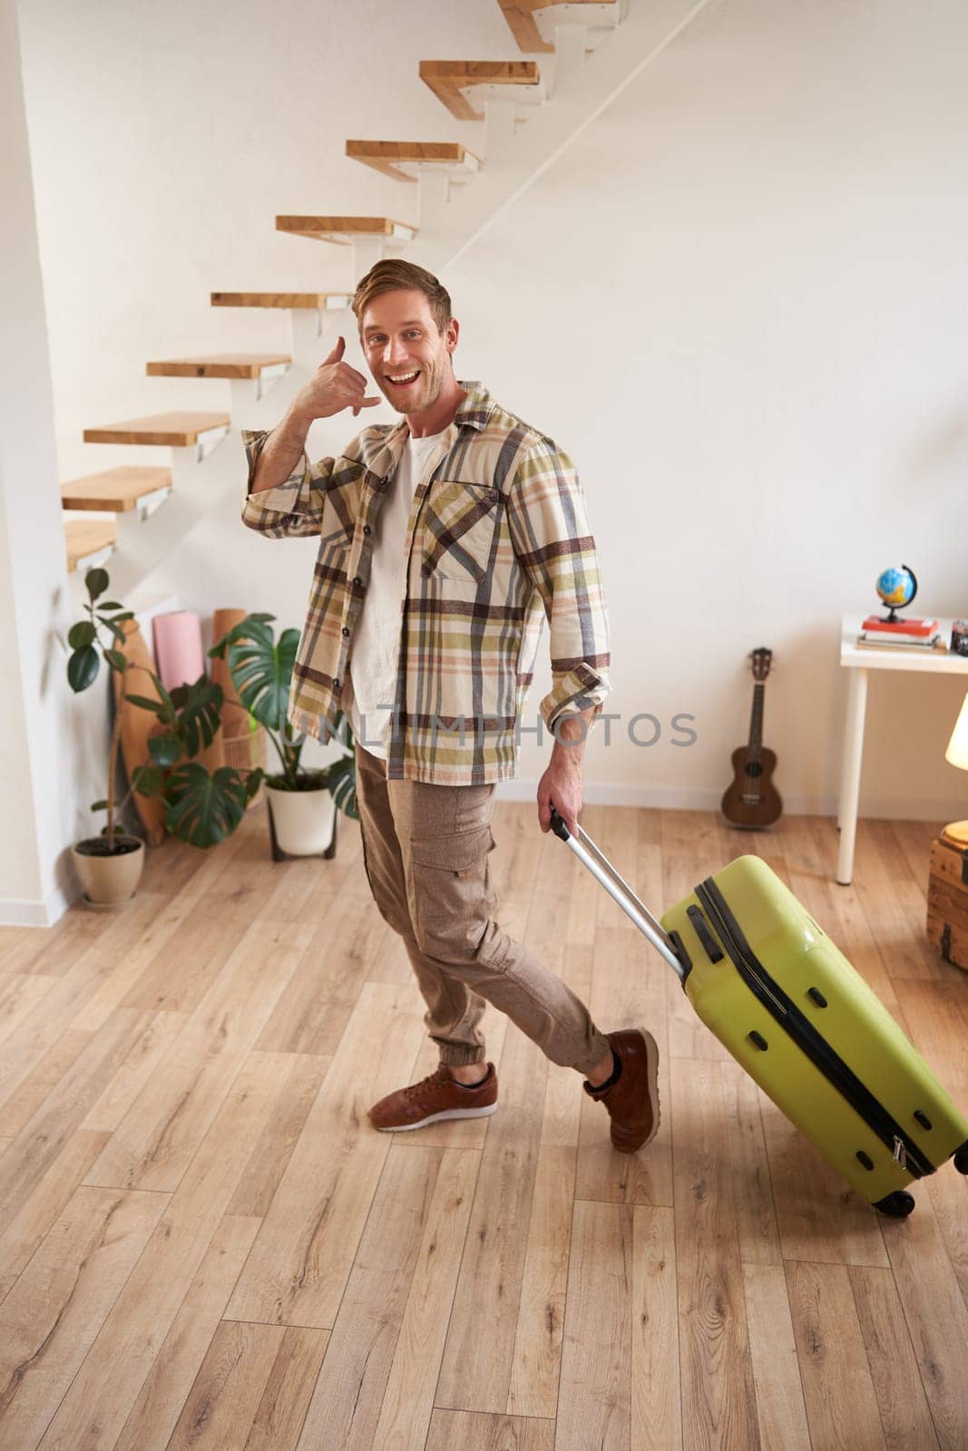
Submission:
M 885 1214 L 953 1158 L 968 1119 L 875 992 L 759 856 L 740 856 L 662 917 L 585 831 L 567 842 L 676 971 L 692 1007 L 827 1162 Z

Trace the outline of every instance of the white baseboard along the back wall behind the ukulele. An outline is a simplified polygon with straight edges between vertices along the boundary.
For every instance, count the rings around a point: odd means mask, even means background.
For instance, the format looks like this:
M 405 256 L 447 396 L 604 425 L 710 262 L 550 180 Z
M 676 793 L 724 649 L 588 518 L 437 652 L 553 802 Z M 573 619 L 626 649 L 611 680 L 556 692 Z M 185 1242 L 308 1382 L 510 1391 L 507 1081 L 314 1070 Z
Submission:
M 501 781 L 498 800 L 534 801 L 537 781 Z M 601 781 L 586 781 L 583 800 L 589 807 L 665 807 L 668 811 L 718 811 L 723 800 L 715 786 L 620 786 Z M 785 815 L 836 817 L 837 798 L 829 795 L 785 795 Z M 932 797 L 861 797 L 861 817 L 877 817 L 891 821 L 953 821 L 959 818 L 955 801 L 939 801 Z M 965 804 L 961 804 L 961 817 Z

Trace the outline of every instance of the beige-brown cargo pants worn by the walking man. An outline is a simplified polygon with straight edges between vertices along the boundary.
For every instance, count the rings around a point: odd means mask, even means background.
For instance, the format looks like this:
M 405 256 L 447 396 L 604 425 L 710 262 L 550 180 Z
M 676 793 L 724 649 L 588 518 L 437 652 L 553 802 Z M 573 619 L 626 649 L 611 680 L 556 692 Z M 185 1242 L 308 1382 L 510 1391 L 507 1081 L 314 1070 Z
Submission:
M 386 762 L 358 741 L 356 763 L 370 891 L 403 939 L 441 1062 L 483 1061 L 486 1000 L 551 1062 L 589 1072 L 608 1039 L 581 998 L 492 917 L 493 784 L 387 781 Z

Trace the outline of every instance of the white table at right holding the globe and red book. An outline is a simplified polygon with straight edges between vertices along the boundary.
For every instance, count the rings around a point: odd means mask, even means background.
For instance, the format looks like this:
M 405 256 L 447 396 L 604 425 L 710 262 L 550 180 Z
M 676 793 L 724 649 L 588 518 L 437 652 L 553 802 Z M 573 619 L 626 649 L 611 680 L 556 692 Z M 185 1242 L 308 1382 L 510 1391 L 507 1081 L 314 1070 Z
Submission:
M 849 670 L 848 720 L 843 730 L 843 760 L 840 766 L 840 849 L 837 852 L 837 881 L 848 887 L 853 876 L 853 843 L 858 830 L 858 801 L 861 797 L 861 759 L 864 756 L 864 723 L 868 704 L 868 675 L 871 670 L 923 670 L 927 675 L 964 675 L 968 678 L 968 656 L 940 650 L 862 650 L 856 640 L 864 615 L 845 615 L 840 628 L 840 665 Z M 951 640 L 951 620 L 938 620 L 942 640 Z

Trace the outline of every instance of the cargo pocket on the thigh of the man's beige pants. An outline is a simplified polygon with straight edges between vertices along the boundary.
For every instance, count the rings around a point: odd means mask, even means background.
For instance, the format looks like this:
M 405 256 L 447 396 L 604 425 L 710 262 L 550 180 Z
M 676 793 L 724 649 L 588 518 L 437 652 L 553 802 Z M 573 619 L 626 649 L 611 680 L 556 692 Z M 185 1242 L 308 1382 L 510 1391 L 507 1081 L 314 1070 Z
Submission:
M 496 907 L 489 826 L 409 844 L 414 933 L 421 952 L 444 962 L 473 958 Z

